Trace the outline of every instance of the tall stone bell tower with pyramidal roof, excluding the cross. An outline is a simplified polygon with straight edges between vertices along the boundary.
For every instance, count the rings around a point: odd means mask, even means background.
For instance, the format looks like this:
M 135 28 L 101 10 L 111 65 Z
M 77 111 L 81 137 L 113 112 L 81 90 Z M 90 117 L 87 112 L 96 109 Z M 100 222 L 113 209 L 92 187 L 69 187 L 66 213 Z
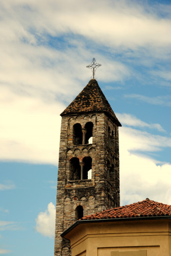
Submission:
M 84 215 L 120 206 L 121 126 L 98 83 L 91 79 L 61 113 L 55 256 L 69 256 L 60 234 Z

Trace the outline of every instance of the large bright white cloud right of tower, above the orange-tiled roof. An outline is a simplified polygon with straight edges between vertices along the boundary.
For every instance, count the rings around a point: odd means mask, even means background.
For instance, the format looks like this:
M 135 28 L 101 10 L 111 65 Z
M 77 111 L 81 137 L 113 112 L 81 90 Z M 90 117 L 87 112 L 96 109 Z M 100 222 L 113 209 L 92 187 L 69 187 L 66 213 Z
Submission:
M 171 147 L 171 138 L 120 128 L 121 205 L 146 198 L 171 205 L 171 163 L 159 163 L 145 155 L 162 147 Z M 144 155 L 136 154 L 138 151 Z

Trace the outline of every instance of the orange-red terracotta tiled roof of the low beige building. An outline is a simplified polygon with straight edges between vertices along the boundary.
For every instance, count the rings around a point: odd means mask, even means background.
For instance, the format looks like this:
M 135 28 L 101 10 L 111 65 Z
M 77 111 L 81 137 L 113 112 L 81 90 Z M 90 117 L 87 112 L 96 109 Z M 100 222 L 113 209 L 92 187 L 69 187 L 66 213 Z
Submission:
M 131 205 L 125 205 L 110 210 L 104 210 L 99 213 L 87 215 L 81 220 L 88 219 L 110 219 L 110 218 L 133 218 L 150 216 L 171 215 L 171 205 L 154 202 L 146 199 Z

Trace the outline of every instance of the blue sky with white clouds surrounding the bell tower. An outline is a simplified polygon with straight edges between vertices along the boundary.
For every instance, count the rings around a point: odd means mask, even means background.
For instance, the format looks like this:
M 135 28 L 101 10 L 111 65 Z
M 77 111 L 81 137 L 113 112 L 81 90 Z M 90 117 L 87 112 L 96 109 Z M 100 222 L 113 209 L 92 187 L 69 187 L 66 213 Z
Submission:
M 0 255 L 52 256 L 60 113 L 97 81 L 122 123 L 121 205 L 171 205 L 171 2 L 0 2 Z

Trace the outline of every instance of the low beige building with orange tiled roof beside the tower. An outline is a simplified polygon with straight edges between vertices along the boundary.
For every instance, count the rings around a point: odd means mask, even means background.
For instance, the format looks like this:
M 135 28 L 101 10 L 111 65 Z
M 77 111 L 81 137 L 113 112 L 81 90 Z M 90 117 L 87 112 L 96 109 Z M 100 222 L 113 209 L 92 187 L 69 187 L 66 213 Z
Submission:
M 72 256 L 171 256 L 171 205 L 143 200 L 82 217 L 62 234 Z

